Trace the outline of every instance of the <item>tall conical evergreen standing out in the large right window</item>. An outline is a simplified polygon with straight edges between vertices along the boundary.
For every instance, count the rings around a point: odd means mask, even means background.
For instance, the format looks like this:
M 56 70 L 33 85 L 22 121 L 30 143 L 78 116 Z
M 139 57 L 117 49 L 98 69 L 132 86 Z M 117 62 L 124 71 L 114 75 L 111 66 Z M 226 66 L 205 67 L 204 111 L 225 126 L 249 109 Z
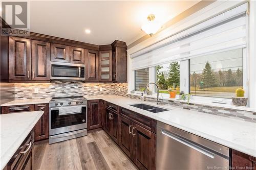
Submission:
M 203 81 L 203 87 L 214 87 L 216 84 L 216 79 L 214 76 L 214 71 L 211 69 L 210 63 L 207 61 L 205 64 L 205 68 L 202 73 L 202 81 Z

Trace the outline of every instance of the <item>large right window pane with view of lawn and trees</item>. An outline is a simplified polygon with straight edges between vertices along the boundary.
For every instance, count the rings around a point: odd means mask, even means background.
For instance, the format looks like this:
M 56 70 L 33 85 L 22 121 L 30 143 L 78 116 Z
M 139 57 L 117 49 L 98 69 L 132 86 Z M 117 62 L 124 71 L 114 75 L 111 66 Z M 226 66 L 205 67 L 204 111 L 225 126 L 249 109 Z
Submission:
M 190 94 L 231 98 L 237 88 L 243 88 L 242 48 L 190 59 Z

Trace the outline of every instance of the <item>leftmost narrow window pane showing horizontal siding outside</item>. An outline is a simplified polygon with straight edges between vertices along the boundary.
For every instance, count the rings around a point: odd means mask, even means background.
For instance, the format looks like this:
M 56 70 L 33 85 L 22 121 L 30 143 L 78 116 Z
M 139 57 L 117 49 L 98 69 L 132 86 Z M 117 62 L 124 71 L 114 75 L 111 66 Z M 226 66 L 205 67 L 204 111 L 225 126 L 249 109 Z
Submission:
M 148 83 L 149 83 L 148 68 L 135 70 L 135 90 L 144 91 Z

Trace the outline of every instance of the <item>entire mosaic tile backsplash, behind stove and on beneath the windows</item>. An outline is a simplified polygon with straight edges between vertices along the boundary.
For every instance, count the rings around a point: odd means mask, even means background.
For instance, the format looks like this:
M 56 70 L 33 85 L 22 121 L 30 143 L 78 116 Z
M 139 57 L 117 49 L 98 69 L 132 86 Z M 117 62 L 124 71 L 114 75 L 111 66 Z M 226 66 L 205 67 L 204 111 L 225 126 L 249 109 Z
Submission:
M 100 91 L 102 88 L 102 91 Z M 38 92 L 36 91 L 38 90 Z M 36 91 L 36 92 L 35 92 Z M 121 95 L 126 98 L 140 99 L 140 96 L 127 94 L 126 83 L 82 83 L 72 81 L 55 81 L 51 83 L 15 83 L 15 100 L 43 99 L 68 95 Z M 156 102 L 155 98 L 145 96 L 145 101 Z M 164 105 L 183 108 L 200 113 L 241 119 L 256 123 L 256 113 L 222 107 L 211 107 L 199 104 L 187 104 L 184 101 L 163 100 Z

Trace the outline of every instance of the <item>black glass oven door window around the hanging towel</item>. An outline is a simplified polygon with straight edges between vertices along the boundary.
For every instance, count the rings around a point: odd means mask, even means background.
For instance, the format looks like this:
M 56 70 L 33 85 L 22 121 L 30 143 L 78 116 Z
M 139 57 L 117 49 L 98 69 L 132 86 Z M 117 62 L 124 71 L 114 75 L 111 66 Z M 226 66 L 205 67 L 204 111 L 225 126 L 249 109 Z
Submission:
M 86 107 L 81 113 L 59 115 L 58 110 L 51 110 L 51 129 L 86 123 Z

